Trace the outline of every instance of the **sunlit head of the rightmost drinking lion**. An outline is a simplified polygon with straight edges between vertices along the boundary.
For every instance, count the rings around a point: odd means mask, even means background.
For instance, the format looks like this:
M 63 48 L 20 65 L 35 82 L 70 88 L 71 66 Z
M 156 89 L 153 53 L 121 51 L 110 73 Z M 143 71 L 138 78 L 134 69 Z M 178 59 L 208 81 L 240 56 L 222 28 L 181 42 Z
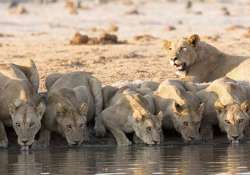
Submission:
M 227 133 L 227 138 L 232 143 L 238 143 L 244 137 L 244 129 L 249 124 L 249 102 L 223 105 L 216 101 L 215 109 L 220 128 Z

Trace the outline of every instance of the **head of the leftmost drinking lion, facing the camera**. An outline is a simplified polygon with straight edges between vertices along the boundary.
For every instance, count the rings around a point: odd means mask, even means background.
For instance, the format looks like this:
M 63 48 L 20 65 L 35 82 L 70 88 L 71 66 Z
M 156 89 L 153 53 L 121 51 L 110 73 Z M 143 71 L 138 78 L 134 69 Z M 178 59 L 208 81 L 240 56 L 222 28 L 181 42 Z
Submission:
M 23 103 L 16 100 L 9 105 L 12 126 L 18 137 L 18 144 L 28 149 L 34 143 L 36 134 L 41 128 L 41 119 L 45 112 L 45 103 Z

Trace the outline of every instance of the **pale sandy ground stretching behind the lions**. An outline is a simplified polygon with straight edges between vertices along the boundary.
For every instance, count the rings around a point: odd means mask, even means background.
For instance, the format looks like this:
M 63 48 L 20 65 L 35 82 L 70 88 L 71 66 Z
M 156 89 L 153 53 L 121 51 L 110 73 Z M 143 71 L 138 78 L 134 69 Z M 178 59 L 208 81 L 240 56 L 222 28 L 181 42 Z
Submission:
M 84 2 L 77 14 L 70 14 L 63 2 L 22 5 L 28 13 L 15 15 L 7 3 L 0 3 L 0 61 L 34 59 L 41 89 L 48 74 L 76 70 L 91 72 L 104 84 L 175 78 L 162 41 L 192 33 L 225 52 L 250 55 L 248 0 L 195 1 L 189 9 L 184 0 Z M 75 32 L 98 36 L 112 26 L 126 44 L 69 44 Z M 136 40 L 138 35 L 151 37 Z

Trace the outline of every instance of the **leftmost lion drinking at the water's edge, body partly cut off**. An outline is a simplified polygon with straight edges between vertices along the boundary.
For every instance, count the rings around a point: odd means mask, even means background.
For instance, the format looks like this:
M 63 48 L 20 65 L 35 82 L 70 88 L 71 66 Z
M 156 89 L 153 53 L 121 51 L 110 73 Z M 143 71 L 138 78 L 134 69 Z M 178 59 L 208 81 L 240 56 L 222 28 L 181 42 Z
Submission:
M 39 75 L 32 60 L 0 65 L 0 147 L 8 146 L 5 126 L 13 127 L 18 144 L 29 149 L 41 128 L 45 102 L 38 94 Z

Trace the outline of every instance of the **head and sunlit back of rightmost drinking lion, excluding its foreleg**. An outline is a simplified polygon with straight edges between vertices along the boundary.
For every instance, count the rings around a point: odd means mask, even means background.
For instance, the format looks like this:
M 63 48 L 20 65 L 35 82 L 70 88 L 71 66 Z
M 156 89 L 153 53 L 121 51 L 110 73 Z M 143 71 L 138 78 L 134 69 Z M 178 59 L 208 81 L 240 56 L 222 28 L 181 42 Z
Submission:
M 230 78 L 215 80 L 208 88 L 212 105 L 217 112 L 220 128 L 232 142 L 239 142 L 249 123 L 248 88 Z

